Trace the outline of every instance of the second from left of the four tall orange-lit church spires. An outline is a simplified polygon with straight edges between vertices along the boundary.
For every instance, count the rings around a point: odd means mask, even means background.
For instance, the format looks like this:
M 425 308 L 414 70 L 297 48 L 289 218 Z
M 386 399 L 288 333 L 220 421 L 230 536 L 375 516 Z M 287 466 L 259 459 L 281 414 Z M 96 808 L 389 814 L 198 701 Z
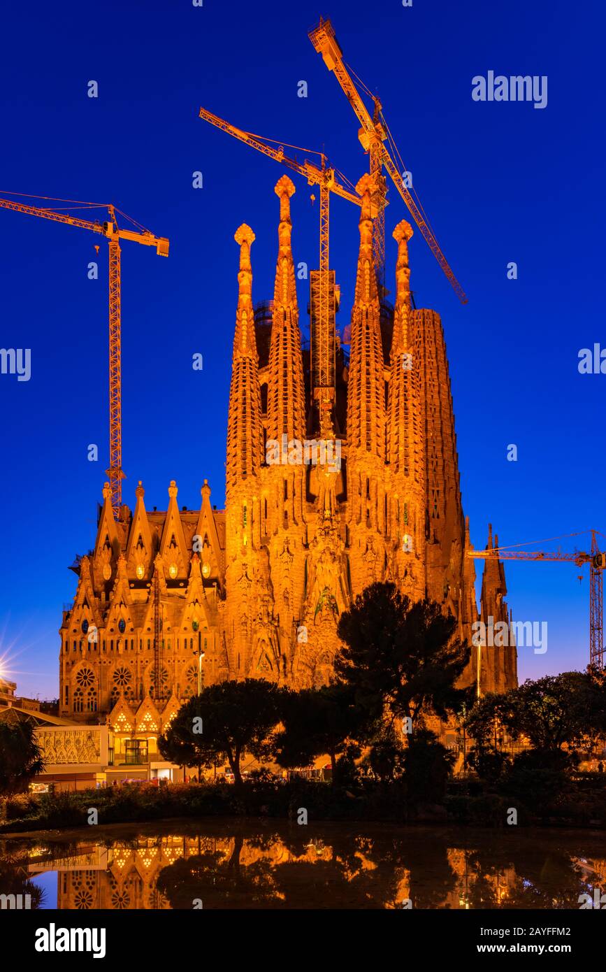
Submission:
M 274 287 L 273 324 L 269 351 L 267 438 L 281 443 L 305 437 L 303 359 L 294 262 L 290 237 L 290 196 L 294 186 L 286 175 L 275 188 L 280 199 L 279 251 Z

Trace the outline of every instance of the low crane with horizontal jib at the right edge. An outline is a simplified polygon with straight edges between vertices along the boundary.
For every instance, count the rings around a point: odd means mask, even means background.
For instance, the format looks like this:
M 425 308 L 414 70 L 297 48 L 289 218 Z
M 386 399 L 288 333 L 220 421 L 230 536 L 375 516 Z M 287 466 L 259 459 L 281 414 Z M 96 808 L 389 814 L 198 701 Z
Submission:
M 584 531 L 587 533 L 587 531 Z M 523 543 L 514 544 L 509 547 L 499 546 L 488 550 L 469 550 L 468 557 L 476 560 L 525 560 L 525 561 L 559 561 L 573 563 L 577 567 L 584 567 L 589 564 L 589 664 L 603 671 L 604 664 L 604 570 L 606 569 L 606 554 L 601 553 L 597 545 L 596 534 L 598 531 L 591 530 L 591 550 L 589 553 L 583 550 L 574 550 L 568 553 L 563 550 L 520 550 L 517 547 L 524 546 Z M 566 537 L 578 537 L 580 534 L 566 534 Z M 549 539 L 560 539 L 551 537 Z

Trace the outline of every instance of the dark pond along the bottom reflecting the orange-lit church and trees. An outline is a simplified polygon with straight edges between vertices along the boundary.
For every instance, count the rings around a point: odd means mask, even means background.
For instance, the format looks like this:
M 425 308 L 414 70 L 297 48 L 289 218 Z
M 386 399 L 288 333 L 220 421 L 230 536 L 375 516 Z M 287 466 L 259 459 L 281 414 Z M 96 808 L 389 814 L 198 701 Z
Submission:
M 0 894 L 59 909 L 579 908 L 602 835 L 213 820 L 0 841 Z M 49 873 L 50 872 L 50 873 Z M 54 897 L 52 895 L 52 897 Z

